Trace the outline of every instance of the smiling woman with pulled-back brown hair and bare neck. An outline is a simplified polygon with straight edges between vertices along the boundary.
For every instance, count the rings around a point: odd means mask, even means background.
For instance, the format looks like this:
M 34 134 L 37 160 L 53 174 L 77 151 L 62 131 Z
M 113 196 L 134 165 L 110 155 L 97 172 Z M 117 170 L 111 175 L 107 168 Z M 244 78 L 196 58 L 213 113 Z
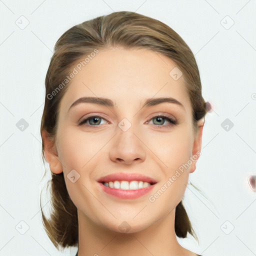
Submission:
M 52 212 L 42 219 L 56 248 L 197 255 L 176 239 L 196 237 L 182 197 L 206 113 L 182 38 L 135 12 L 85 21 L 57 40 L 45 89 L 40 131 Z

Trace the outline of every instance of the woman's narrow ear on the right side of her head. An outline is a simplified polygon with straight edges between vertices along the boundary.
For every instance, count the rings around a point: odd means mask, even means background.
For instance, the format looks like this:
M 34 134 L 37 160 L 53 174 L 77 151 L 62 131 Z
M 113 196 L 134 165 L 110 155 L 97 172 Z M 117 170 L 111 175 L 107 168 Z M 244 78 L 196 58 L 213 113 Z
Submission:
M 190 165 L 189 173 L 191 173 L 195 170 L 195 168 L 196 168 L 195 164 L 196 164 L 196 161 L 198 160 L 200 152 L 201 152 L 202 128 L 203 128 L 203 125 L 204 125 L 204 118 L 198 120 L 197 125 L 198 125 L 198 130 L 195 134 L 194 142 L 193 142 L 193 148 L 191 150 L 192 163 Z

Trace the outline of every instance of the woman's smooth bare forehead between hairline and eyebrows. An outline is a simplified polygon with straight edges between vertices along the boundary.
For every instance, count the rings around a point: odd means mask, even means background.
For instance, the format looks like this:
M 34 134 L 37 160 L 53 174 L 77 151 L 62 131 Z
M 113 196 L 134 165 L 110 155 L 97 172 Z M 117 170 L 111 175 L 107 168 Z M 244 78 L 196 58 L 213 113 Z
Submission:
M 173 72 L 179 76 L 180 70 L 165 55 L 147 49 L 117 48 L 100 49 L 86 62 L 85 57 L 73 65 L 77 72 L 61 99 L 62 111 L 82 96 L 106 97 L 115 107 L 133 105 L 134 109 L 145 98 L 170 96 L 190 107 L 183 75 L 178 79 L 173 76 Z

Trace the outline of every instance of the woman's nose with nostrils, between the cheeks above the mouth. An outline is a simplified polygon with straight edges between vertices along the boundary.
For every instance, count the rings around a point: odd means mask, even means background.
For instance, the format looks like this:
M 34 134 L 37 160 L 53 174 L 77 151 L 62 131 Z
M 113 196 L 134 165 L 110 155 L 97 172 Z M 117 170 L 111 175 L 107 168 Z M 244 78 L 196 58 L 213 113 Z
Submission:
M 141 140 L 139 135 L 133 133 L 132 126 L 126 131 L 117 128 L 109 150 L 111 161 L 122 164 L 144 161 L 146 151 Z

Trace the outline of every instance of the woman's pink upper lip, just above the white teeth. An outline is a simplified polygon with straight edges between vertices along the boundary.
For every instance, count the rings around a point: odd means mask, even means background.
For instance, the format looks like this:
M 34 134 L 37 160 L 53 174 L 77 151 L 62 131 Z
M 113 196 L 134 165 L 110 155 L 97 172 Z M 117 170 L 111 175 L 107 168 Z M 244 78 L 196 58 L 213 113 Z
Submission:
M 118 173 L 112 173 L 103 177 L 100 177 L 97 181 L 98 182 L 109 182 L 109 181 L 122 181 L 122 180 L 127 180 L 127 181 L 132 181 L 132 180 L 137 180 L 137 181 L 143 181 L 143 182 L 148 182 L 148 183 L 156 183 L 157 181 L 151 177 L 139 174 L 139 173 L 123 173 L 123 172 L 118 172 Z

